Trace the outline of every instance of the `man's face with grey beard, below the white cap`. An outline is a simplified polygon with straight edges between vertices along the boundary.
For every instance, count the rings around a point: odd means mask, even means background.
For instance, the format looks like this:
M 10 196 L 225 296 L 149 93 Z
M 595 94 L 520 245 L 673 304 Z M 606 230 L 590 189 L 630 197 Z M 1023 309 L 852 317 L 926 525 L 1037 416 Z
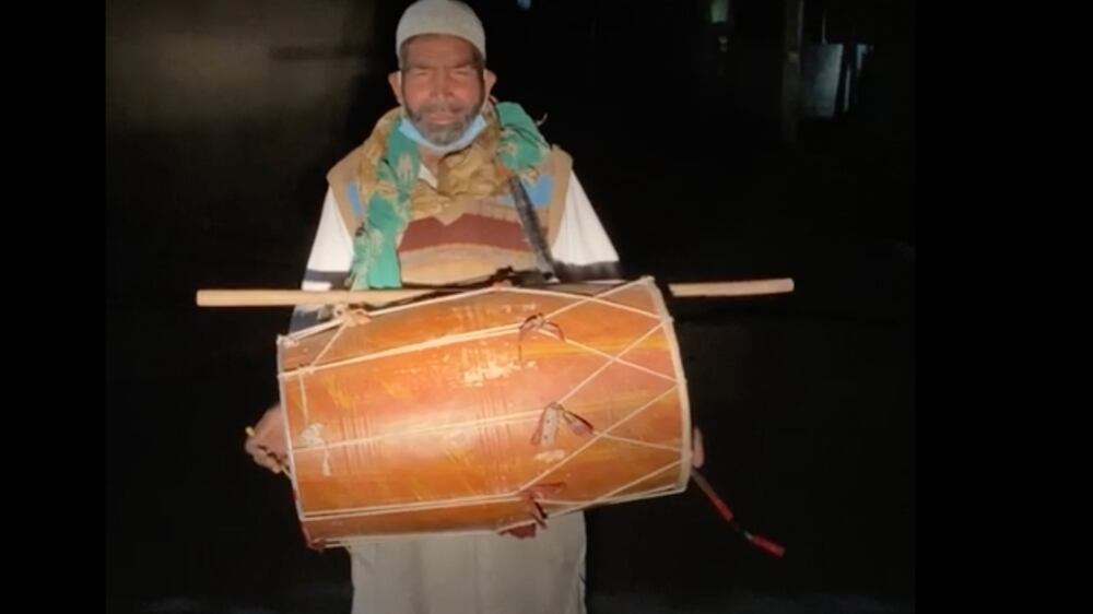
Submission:
M 437 145 L 458 140 L 482 109 L 496 76 L 475 61 L 474 47 L 458 36 L 411 38 L 391 90 L 410 121 Z

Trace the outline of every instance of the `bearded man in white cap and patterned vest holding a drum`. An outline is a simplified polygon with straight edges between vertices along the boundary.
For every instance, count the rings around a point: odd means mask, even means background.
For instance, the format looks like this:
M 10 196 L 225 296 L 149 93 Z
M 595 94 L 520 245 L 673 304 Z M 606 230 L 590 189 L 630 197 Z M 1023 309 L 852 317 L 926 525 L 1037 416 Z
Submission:
M 569 157 L 520 107 L 492 103 L 496 75 L 474 13 L 421 0 L 396 38 L 399 107 L 328 174 L 304 290 L 449 285 L 505 269 L 610 271 L 618 255 Z M 320 316 L 297 308 L 293 328 Z M 273 471 L 285 459 L 283 420 L 272 408 L 246 442 Z M 353 612 L 584 612 L 585 545 L 581 513 L 533 535 L 353 543 Z

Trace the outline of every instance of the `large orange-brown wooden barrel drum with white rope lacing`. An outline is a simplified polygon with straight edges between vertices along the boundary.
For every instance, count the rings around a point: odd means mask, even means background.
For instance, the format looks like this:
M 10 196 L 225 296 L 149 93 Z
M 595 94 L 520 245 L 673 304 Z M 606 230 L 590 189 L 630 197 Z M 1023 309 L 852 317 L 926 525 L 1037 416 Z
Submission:
M 278 346 L 316 545 L 505 531 L 690 479 L 686 382 L 649 278 L 350 311 Z

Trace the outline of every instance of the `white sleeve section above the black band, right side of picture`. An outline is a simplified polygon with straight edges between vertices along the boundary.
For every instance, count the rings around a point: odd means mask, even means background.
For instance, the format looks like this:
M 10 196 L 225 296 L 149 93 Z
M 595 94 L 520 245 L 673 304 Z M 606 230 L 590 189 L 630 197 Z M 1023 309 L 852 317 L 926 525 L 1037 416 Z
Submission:
M 559 223 L 559 233 L 551 247 L 554 260 L 564 264 L 584 265 L 618 262 L 610 237 L 596 215 L 585 189 L 576 174 L 569 174 L 569 187 L 565 193 L 565 210 Z

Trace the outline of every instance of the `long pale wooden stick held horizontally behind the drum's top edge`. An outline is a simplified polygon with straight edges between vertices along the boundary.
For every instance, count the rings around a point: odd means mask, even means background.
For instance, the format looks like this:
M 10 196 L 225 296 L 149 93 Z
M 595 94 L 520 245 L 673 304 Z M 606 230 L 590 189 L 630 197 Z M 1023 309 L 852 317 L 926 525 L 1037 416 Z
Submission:
M 435 287 L 420 290 L 199 290 L 197 304 L 201 307 L 277 307 L 294 305 L 332 305 L 362 303 L 381 306 L 433 293 L 467 292 L 466 287 Z M 546 288 L 549 290 L 549 287 Z M 668 284 L 673 296 L 757 296 L 783 294 L 794 291 L 794 280 L 772 279 L 744 282 L 704 282 Z

